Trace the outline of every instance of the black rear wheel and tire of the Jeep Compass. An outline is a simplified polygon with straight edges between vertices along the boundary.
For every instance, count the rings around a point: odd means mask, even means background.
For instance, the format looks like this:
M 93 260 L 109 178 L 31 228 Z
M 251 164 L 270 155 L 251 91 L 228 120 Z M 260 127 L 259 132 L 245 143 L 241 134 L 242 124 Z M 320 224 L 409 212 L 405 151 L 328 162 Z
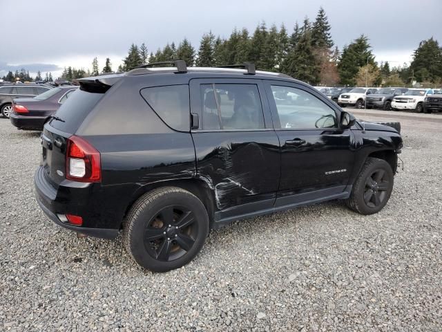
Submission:
M 178 187 L 162 187 L 133 204 L 124 223 L 123 241 L 140 266 L 166 272 L 189 263 L 207 234 L 209 216 L 200 199 Z

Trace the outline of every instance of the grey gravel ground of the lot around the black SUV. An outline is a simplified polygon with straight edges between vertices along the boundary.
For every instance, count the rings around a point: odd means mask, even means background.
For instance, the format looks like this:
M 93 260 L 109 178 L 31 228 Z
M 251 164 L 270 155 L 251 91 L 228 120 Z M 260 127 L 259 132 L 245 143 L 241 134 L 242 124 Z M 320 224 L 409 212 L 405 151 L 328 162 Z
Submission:
M 0 330 L 441 331 L 442 114 L 354 113 L 403 127 L 383 211 L 334 201 L 233 223 L 164 274 L 121 237 L 77 239 L 46 218 L 39 133 L 0 118 Z

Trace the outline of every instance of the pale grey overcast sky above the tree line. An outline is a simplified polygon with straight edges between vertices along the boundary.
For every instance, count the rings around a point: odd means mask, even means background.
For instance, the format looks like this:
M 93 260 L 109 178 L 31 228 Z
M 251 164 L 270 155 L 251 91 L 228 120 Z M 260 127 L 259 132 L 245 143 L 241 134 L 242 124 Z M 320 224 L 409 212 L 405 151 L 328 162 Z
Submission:
M 253 33 L 263 20 L 291 33 L 295 21 L 314 20 L 320 6 L 340 49 L 365 34 L 376 61 L 391 66 L 410 62 L 422 39 L 442 42 L 442 0 L 0 0 L 0 76 L 25 67 L 57 77 L 64 66 L 91 68 L 93 57 L 100 69 L 110 57 L 116 70 L 131 43 L 155 53 L 187 37 L 198 49 L 209 30 L 221 37 L 234 27 Z

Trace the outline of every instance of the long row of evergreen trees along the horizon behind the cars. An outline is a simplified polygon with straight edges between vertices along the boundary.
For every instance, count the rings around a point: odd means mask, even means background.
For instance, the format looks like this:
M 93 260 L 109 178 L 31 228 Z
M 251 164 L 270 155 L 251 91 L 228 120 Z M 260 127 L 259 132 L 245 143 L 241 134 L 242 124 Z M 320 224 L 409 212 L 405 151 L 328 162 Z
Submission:
M 234 28 L 228 38 L 209 31 L 202 35 L 198 50 L 186 38 L 150 53 L 144 43 L 141 46 L 131 44 L 115 72 L 130 71 L 142 64 L 182 59 L 187 66 L 251 62 L 260 70 L 285 73 L 312 85 L 410 86 L 414 81 L 433 86 L 442 84 L 442 48 L 433 37 L 419 43 L 410 65 L 404 63 L 390 68 L 388 62 L 375 61 L 367 36 L 361 35 L 339 50 L 330 30 L 321 7 L 314 21 L 305 17 L 302 24 L 296 22 L 290 32 L 283 24 L 280 28 L 275 25 L 267 28 L 264 21 L 253 33 L 247 28 Z M 113 72 L 111 59 L 106 58 L 104 68 L 99 68 L 95 57 L 92 71 L 69 66 L 64 68 L 61 78 L 75 80 Z

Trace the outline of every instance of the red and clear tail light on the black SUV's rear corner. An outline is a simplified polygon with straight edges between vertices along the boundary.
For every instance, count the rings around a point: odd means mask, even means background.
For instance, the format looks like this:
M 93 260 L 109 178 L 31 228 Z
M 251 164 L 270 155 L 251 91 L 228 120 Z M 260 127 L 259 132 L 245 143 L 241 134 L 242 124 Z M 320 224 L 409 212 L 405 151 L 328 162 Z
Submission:
M 70 136 L 68 139 L 66 178 L 79 182 L 102 181 L 99 152 L 78 136 Z

